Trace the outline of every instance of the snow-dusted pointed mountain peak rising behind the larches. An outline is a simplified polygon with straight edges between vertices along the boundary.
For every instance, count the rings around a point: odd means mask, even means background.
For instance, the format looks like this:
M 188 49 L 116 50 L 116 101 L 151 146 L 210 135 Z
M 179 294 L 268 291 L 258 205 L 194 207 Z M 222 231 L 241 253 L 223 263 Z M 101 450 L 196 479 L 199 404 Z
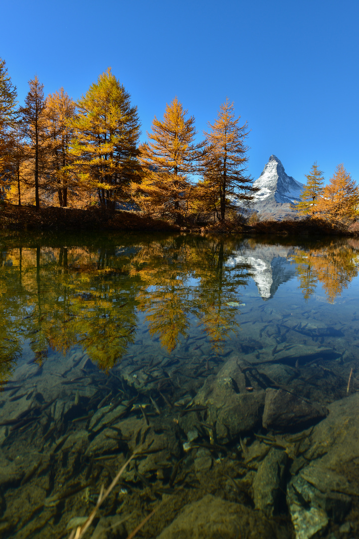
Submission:
M 285 173 L 278 157 L 269 157 L 253 186 L 259 188 L 254 195 L 253 209 L 259 213 L 261 219 L 281 220 L 289 216 L 295 217 L 293 209 L 300 200 L 300 191 L 304 184 Z

